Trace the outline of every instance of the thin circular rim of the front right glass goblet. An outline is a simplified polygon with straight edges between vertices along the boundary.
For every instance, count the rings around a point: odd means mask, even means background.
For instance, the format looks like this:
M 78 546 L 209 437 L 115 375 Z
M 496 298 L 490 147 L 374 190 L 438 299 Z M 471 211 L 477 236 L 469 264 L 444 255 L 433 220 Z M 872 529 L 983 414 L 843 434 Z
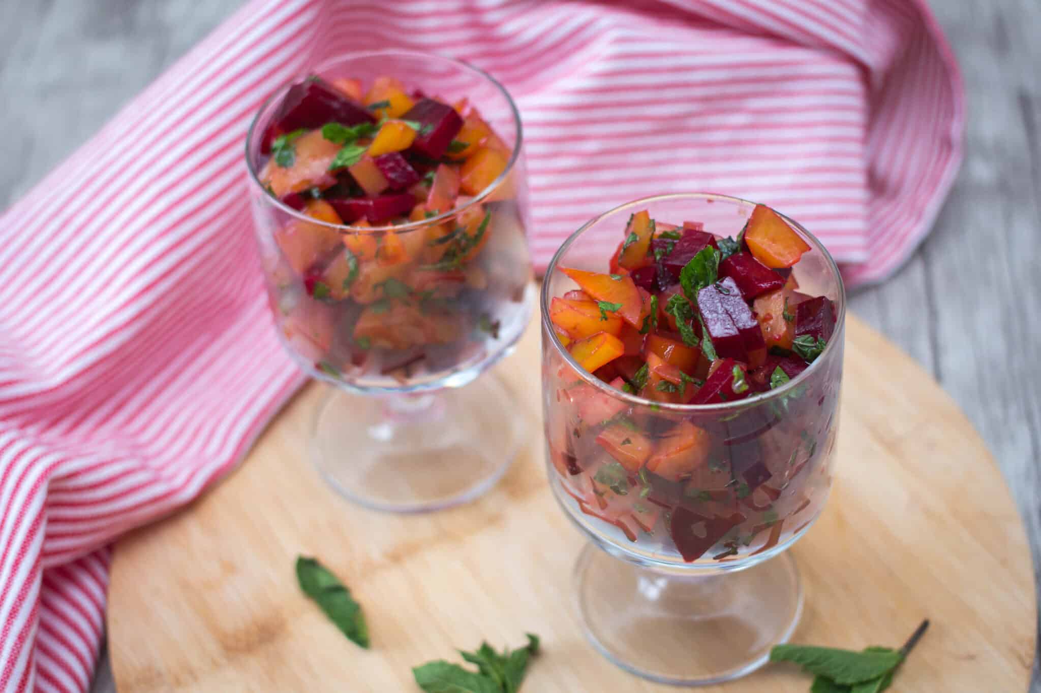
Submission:
M 650 205 L 652 203 L 675 201 L 675 199 L 706 199 L 706 201 L 718 199 L 721 202 L 727 202 L 732 204 L 736 203 L 741 205 L 752 205 L 753 207 L 755 207 L 755 205 L 757 204 L 744 199 L 742 197 L 734 197 L 733 195 L 723 195 L 713 192 L 675 192 L 664 195 L 651 195 L 650 197 L 640 197 L 639 199 L 634 199 L 632 202 L 625 203 L 624 205 L 618 205 L 617 207 L 609 209 L 608 211 L 586 221 L 584 224 L 579 226 L 579 229 L 576 232 L 574 232 L 570 236 L 568 236 L 567 239 L 560 245 L 560 247 L 557 248 L 557 251 L 553 254 L 553 258 L 550 260 L 550 264 L 547 265 L 545 274 L 542 277 L 542 288 L 539 296 L 539 308 L 541 309 L 541 314 L 542 314 L 541 317 L 542 329 L 543 331 L 550 335 L 550 343 L 553 345 L 557 353 L 560 356 L 562 356 L 564 361 L 572 366 L 572 368 L 575 369 L 575 371 L 579 374 L 579 377 L 581 377 L 583 380 L 593 385 L 598 390 L 601 390 L 605 394 L 620 399 L 624 402 L 627 402 L 634 406 L 642 406 L 649 408 L 657 407 L 658 409 L 663 411 L 681 411 L 681 412 L 730 411 L 733 409 L 741 409 L 744 407 L 754 406 L 757 404 L 761 404 L 763 402 L 769 402 L 775 399 L 783 397 L 788 392 L 797 388 L 798 384 L 806 379 L 807 373 L 813 371 L 813 369 L 817 366 L 817 364 L 821 363 L 824 359 L 824 356 L 827 354 L 834 351 L 833 345 L 837 340 L 829 340 L 828 343 L 824 345 L 823 351 L 820 352 L 820 355 L 814 358 L 813 363 L 810 364 L 806 368 L 806 370 L 804 370 L 795 377 L 789 379 L 788 382 L 784 383 L 780 388 L 775 388 L 773 390 L 768 390 L 763 393 L 756 393 L 752 397 L 746 397 L 745 399 L 738 399 L 731 402 L 717 402 L 711 404 L 677 404 L 672 402 L 659 402 L 657 400 L 648 399 L 645 397 L 640 397 L 635 394 L 623 392 L 621 390 L 616 390 L 612 388 L 610 384 L 598 378 L 595 375 L 593 375 L 586 369 L 582 368 L 582 366 L 580 366 L 578 362 L 575 361 L 575 358 L 572 356 L 570 352 L 564 347 L 564 345 L 560 343 L 560 339 L 557 337 L 557 331 L 553 328 L 553 323 L 550 320 L 549 305 L 550 305 L 550 299 L 552 298 L 552 296 L 550 296 L 550 275 L 553 271 L 557 269 L 557 265 L 560 259 L 563 257 L 563 254 L 567 251 L 567 249 L 575 243 L 575 241 L 578 240 L 578 238 L 583 233 L 585 233 L 587 230 L 589 230 L 591 226 L 599 223 L 600 221 L 607 219 L 609 216 L 612 216 L 619 212 L 625 212 L 626 210 L 632 209 L 633 207 L 639 207 L 639 206 Z M 824 244 L 821 243 L 816 236 L 807 231 L 803 226 L 803 224 L 782 214 L 781 212 L 778 212 L 772 207 L 770 207 L 770 209 L 777 212 L 777 214 L 780 215 L 781 218 L 783 218 L 786 222 L 790 223 L 792 226 L 797 229 L 802 234 L 804 234 L 810 241 L 811 247 L 820 250 L 820 252 L 827 260 L 828 268 L 832 271 L 832 275 L 839 290 L 837 297 L 839 303 L 839 311 L 835 318 L 835 325 L 836 325 L 835 334 L 837 335 L 842 334 L 845 326 L 846 294 L 845 294 L 845 284 L 842 282 L 842 274 L 841 272 L 839 272 L 838 264 L 835 262 L 835 259 L 832 258 L 832 254 L 828 251 L 828 248 L 824 247 Z

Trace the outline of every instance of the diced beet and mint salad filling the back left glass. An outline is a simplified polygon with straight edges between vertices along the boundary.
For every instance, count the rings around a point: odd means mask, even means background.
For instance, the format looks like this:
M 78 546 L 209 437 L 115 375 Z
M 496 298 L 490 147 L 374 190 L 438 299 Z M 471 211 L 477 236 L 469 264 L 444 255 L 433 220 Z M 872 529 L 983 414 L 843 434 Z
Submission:
M 404 77 L 311 76 L 261 111 L 248 156 L 269 294 L 312 375 L 435 382 L 519 336 L 518 136 Z

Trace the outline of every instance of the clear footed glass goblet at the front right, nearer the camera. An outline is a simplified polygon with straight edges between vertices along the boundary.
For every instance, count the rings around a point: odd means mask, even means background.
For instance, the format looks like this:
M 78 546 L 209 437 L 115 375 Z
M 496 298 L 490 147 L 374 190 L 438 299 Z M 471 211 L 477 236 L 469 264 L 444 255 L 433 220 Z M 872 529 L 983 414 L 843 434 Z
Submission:
M 820 514 L 831 488 L 842 281 L 824 247 L 784 217 L 811 246 L 792 270 L 799 291 L 835 301 L 835 332 L 813 364 L 786 384 L 709 405 L 643 399 L 583 370 L 556 336 L 550 303 L 576 288 L 558 268 L 608 271 L 634 212 L 646 209 L 663 222 L 702 221 L 705 231 L 736 237 L 753 208 L 703 193 L 623 205 L 575 232 L 542 284 L 550 484 L 565 514 L 591 540 L 575 568 L 579 617 L 608 659 L 661 683 L 712 684 L 744 675 L 795 628 L 803 592 L 794 561 L 784 552 Z M 623 444 L 653 446 L 662 459 L 675 454 L 671 459 L 682 460 L 692 436 L 709 445 L 710 454 L 692 473 L 662 477 L 644 465 L 634 474 L 601 445 L 614 433 L 630 438 Z M 663 464 L 654 467 L 660 471 Z

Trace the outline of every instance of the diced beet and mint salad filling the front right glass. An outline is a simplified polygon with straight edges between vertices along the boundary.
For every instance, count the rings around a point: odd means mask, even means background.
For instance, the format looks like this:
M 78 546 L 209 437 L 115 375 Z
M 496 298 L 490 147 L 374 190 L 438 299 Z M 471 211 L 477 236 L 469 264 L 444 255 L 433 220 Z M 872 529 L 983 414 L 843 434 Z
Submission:
M 736 236 L 640 210 L 618 239 L 599 271 L 562 251 L 548 279 L 558 499 L 658 560 L 780 550 L 831 483 L 841 344 L 811 365 L 841 332 L 836 301 L 796 279 L 811 245 L 763 205 Z

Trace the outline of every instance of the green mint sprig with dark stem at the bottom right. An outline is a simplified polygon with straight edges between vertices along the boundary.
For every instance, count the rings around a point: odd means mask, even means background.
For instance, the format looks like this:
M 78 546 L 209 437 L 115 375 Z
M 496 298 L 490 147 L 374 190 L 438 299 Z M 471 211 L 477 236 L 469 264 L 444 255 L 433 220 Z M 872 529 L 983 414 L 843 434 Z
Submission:
M 814 645 L 776 645 L 771 662 L 792 662 L 816 675 L 811 693 L 880 693 L 929 628 L 921 622 L 899 649 L 867 647 L 862 651 Z

